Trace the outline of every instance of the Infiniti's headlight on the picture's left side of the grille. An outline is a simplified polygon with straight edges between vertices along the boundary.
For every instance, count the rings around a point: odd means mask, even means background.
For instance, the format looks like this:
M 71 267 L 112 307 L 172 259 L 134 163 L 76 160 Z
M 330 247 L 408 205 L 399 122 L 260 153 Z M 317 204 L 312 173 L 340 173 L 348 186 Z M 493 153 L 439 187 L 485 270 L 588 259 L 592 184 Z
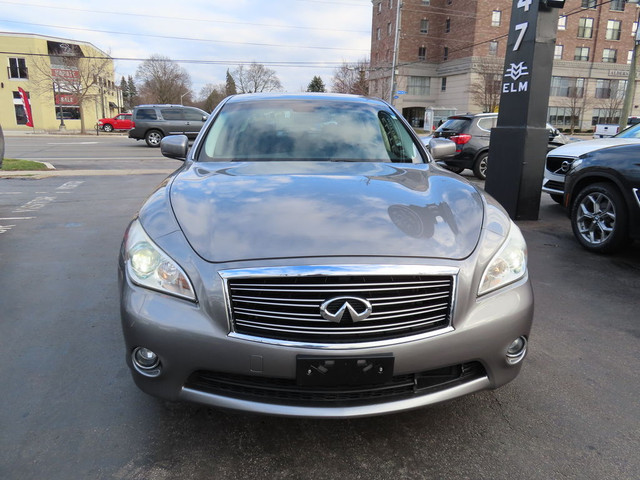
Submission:
M 195 301 L 187 274 L 151 241 L 139 220 L 129 227 L 125 248 L 127 273 L 133 283 Z

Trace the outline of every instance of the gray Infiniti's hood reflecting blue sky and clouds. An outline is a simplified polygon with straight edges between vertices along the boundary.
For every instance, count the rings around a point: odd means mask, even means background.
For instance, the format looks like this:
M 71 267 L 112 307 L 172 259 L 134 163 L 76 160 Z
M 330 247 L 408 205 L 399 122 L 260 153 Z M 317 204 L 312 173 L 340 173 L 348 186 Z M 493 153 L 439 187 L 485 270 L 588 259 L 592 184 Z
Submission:
M 484 203 L 430 165 L 345 162 L 194 163 L 171 205 L 207 261 L 322 256 L 462 259 Z

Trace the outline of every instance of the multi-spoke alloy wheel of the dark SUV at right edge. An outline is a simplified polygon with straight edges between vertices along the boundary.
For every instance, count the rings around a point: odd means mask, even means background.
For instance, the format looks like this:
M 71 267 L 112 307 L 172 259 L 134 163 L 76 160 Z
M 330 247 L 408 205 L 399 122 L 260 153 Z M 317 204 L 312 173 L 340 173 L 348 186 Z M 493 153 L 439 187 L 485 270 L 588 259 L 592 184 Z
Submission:
M 587 250 L 611 253 L 627 240 L 627 211 L 624 199 L 610 183 L 583 188 L 571 207 L 571 228 Z

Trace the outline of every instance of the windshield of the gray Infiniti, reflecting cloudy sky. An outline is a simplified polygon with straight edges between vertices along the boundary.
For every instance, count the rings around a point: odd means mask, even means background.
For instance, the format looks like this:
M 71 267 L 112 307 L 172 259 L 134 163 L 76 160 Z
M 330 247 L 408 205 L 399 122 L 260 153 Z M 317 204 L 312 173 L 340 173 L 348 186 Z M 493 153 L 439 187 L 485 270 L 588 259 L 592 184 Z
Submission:
M 326 99 L 229 103 L 198 155 L 201 162 L 276 160 L 423 162 L 392 111 Z

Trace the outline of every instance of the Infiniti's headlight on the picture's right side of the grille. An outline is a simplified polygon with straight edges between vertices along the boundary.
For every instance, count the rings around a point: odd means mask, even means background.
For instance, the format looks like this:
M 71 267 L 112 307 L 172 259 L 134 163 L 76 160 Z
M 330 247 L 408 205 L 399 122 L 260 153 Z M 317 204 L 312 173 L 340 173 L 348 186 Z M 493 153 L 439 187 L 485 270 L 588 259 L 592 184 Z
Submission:
M 511 222 L 509 236 L 482 275 L 478 295 L 515 282 L 527 273 L 527 244 L 520 229 Z

